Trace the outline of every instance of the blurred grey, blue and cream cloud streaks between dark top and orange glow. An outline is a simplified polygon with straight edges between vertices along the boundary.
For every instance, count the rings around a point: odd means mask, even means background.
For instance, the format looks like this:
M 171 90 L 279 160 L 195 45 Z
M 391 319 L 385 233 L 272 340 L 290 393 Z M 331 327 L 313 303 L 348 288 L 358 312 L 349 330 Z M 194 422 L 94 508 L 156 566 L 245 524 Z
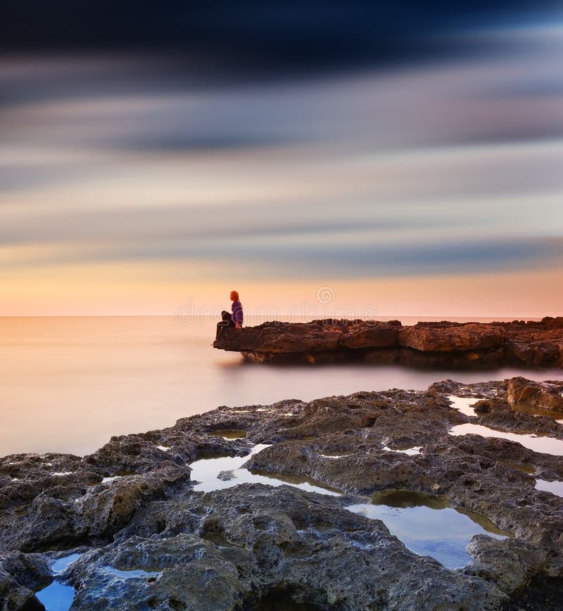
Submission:
M 474 51 L 213 86 L 139 58 L 4 59 L 0 84 L 17 87 L 0 101 L 0 277 L 556 267 L 563 27 L 481 32 Z

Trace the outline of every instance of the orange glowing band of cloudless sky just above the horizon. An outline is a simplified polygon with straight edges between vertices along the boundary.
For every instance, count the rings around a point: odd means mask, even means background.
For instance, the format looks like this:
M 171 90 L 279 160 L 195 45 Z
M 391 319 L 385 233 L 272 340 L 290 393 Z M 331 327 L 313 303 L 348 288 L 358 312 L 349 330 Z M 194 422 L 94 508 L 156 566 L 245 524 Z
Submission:
M 182 281 L 181 265 L 90 265 L 4 277 L 1 316 L 218 316 L 236 289 L 246 315 L 500 317 L 563 315 L 563 267 L 542 271 L 374 279 Z M 185 271 L 185 270 L 184 270 Z M 176 277 L 175 277 L 176 276 Z M 325 296 L 319 291 L 327 287 Z

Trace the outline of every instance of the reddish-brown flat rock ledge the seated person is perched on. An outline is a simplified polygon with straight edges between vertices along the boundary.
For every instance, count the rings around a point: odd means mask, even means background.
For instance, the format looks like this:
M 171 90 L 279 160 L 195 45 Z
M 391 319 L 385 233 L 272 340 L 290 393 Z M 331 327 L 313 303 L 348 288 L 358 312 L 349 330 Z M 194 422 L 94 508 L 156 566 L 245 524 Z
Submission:
M 563 317 L 540 322 L 419 322 L 313 320 L 220 327 L 214 348 L 255 363 L 402 363 L 476 369 L 563 367 Z

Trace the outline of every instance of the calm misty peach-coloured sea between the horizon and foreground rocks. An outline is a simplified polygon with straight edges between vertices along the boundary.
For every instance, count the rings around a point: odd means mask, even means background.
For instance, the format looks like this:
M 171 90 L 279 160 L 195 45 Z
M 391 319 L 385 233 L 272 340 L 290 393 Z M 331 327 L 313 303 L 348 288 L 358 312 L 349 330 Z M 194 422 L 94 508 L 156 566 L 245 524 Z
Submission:
M 217 405 L 426 389 L 448 377 L 563 379 L 561 370 L 251 365 L 238 353 L 211 348 L 213 339 L 215 321 L 208 319 L 182 326 L 174 317 L 158 316 L 0 317 L 0 455 L 84 455 L 112 435 L 167 427 Z

